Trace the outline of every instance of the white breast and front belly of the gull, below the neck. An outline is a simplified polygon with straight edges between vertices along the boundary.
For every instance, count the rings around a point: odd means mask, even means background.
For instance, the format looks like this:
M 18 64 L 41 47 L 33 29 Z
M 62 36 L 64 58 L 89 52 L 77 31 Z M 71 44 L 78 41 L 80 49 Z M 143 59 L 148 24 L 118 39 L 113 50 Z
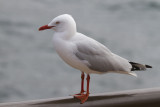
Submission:
M 88 67 L 75 56 L 76 46 L 73 42 L 53 37 L 53 45 L 58 55 L 70 66 L 83 72 L 90 71 Z

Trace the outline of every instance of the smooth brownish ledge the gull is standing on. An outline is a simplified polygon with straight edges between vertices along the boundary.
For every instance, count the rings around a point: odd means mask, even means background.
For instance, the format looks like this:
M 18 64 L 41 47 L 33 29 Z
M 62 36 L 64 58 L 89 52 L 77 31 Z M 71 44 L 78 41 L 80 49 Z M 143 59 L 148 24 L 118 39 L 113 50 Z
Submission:
M 0 107 L 160 107 L 160 88 L 91 94 L 88 101 L 72 96 L 26 102 L 1 103 Z

